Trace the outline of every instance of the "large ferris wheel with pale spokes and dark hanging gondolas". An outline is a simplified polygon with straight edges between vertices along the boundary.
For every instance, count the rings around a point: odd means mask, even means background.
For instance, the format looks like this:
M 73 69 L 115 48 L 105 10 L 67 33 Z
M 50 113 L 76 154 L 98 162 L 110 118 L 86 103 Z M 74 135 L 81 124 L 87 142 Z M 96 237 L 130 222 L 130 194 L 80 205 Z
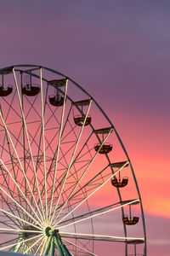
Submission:
M 145 256 L 133 166 L 99 104 L 48 67 L 0 76 L 0 250 Z

